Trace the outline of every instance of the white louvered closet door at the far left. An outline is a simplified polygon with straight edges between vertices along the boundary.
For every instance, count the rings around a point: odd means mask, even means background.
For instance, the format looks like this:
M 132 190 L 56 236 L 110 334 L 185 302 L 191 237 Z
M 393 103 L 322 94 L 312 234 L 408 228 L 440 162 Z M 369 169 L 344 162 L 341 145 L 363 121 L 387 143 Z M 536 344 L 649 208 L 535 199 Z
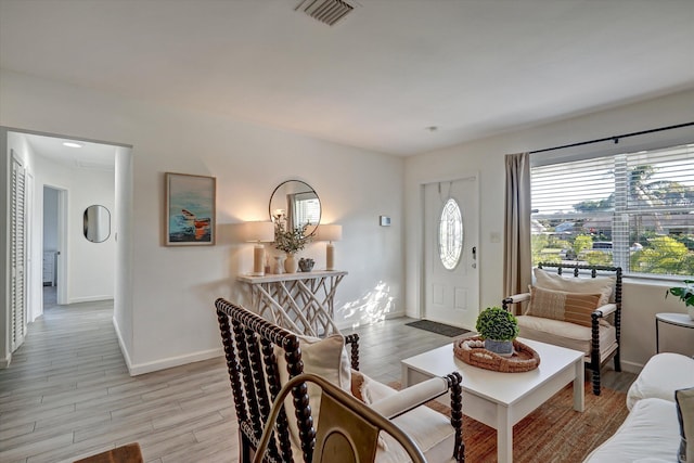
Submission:
M 15 351 L 26 335 L 26 171 L 12 156 L 11 250 L 12 266 L 11 312 L 12 338 L 10 350 Z

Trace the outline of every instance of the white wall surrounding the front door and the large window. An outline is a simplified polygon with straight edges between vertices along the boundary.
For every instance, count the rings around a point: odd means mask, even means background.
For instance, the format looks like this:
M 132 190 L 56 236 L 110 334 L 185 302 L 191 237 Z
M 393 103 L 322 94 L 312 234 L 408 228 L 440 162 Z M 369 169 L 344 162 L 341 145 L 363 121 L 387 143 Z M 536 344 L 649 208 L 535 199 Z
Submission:
M 603 111 L 542 127 L 520 130 L 499 137 L 461 144 L 446 150 L 409 157 L 406 162 L 404 204 L 410 205 L 406 227 L 406 300 L 408 313 L 415 316 L 420 308 L 420 241 L 421 214 L 417 214 L 420 184 L 440 179 L 480 172 L 480 306 L 498 306 L 502 294 L 503 243 L 492 243 L 490 235 L 503 236 L 504 155 L 541 150 L 586 140 L 648 130 L 694 120 L 694 91 Z M 694 129 L 659 132 L 650 137 L 622 139 L 615 147 L 611 143 L 583 146 L 581 150 L 614 152 L 628 146 L 645 146 L 669 141 L 694 141 Z M 576 153 L 574 150 L 570 153 Z M 564 156 L 567 152 L 552 152 Z M 412 213 L 412 214 L 410 214 Z M 684 306 L 672 298 L 664 299 L 668 283 L 650 284 L 628 281 L 624 292 L 622 363 L 637 369 L 655 352 L 654 313 L 684 312 Z M 669 348 L 694 353 L 694 333 L 672 333 Z

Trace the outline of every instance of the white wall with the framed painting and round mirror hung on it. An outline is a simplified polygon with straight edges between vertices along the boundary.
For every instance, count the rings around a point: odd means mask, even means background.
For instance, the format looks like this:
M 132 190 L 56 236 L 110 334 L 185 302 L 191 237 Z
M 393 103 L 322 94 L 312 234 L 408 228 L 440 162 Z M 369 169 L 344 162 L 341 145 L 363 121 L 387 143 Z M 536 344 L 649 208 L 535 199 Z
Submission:
M 131 372 L 221 353 L 213 303 L 243 299 L 234 278 L 253 260 L 253 245 L 234 242 L 231 226 L 268 219 L 270 194 L 287 179 L 311 184 L 323 221 L 343 224 L 337 266 L 350 274 L 337 291 L 338 323 L 404 311 L 401 158 L 8 70 L 0 101 L 2 126 L 133 146 L 133 207 L 121 218 L 132 223 L 132 304 L 114 314 L 120 335 L 132 333 L 131 343 L 121 338 Z M 163 246 L 166 171 L 217 177 L 216 246 Z M 378 227 L 384 214 L 390 228 Z M 304 255 L 324 267 L 324 244 Z

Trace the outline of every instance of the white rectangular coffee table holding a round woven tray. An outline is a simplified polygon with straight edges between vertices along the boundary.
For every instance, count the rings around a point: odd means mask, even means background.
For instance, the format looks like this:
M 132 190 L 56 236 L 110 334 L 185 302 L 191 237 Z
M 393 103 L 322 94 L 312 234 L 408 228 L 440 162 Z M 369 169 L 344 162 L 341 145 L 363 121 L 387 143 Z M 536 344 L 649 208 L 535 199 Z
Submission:
M 497 429 L 499 463 L 513 461 L 513 425 L 574 383 L 574 410 L 583 411 L 583 352 L 530 339 L 518 340 L 540 355 L 540 365 L 524 373 L 499 373 L 470 365 L 449 344 L 402 360 L 402 387 L 459 371 L 463 414 Z

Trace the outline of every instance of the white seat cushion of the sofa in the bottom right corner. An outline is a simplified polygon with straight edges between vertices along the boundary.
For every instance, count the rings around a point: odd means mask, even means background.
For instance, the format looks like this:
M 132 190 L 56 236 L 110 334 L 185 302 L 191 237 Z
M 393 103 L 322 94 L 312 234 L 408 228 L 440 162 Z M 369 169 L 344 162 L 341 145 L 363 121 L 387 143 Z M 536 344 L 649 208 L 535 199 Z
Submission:
M 632 463 L 634 461 L 676 462 L 680 443 L 674 402 L 643 399 L 637 402 L 604 443 L 584 460 L 587 463 Z

